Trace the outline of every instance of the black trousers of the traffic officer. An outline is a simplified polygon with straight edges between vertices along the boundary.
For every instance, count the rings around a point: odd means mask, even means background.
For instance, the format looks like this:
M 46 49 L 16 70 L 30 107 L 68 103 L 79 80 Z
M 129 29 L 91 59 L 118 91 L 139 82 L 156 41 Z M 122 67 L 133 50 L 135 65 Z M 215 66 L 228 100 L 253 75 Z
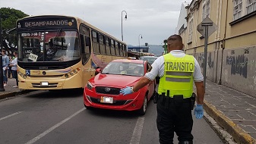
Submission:
M 166 99 L 163 96 L 157 102 L 157 129 L 159 131 L 160 143 L 173 143 L 174 132 L 178 136 L 179 143 L 193 143 L 191 130 L 193 119 L 191 115 L 191 102 L 179 99 Z

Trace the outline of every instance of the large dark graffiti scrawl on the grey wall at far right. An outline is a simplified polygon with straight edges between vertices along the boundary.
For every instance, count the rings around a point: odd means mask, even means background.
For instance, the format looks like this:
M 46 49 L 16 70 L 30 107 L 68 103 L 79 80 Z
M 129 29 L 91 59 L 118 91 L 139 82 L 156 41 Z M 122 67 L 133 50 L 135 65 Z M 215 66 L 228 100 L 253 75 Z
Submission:
M 231 65 L 231 75 L 240 74 L 247 78 L 248 58 L 245 55 L 226 56 L 226 64 Z

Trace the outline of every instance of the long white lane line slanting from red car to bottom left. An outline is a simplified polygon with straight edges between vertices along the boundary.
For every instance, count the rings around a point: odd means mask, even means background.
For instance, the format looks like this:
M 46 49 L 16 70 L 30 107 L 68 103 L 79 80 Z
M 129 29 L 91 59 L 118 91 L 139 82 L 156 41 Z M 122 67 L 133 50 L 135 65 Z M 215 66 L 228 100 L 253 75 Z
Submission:
M 38 136 L 34 137 L 33 139 L 31 139 L 30 141 L 26 142 L 25 144 L 32 144 L 33 142 L 36 142 L 38 139 L 41 139 L 43 136 L 46 136 L 46 134 L 50 133 L 52 130 L 55 130 L 55 128 L 61 126 L 65 122 L 69 121 L 72 117 L 76 116 L 77 114 L 81 113 L 84 110 L 85 110 L 85 108 L 82 108 L 81 110 L 75 112 L 70 117 L 67 117 L 67 118 L 65 118 L 65 120 L 59 122 L 58 124 L 55 124 L 54 126 L 50 127 L 48 130 L 44 131 L 43 133 L 40 133 L 40 135 L 38 135 Z

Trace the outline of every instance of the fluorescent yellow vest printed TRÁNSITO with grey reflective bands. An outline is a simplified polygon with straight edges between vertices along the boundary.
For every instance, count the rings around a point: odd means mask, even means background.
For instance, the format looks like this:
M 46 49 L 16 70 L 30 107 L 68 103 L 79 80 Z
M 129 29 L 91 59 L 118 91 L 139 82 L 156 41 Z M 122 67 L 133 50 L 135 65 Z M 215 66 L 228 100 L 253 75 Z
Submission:
M 183 95 L 183 99 L 190 98 L 193 92 L 194 57 L 185 55 L 183 58 L 176 58 L 172 54 L 163 55 L 164 74 L 160 78 L 158 93 Z

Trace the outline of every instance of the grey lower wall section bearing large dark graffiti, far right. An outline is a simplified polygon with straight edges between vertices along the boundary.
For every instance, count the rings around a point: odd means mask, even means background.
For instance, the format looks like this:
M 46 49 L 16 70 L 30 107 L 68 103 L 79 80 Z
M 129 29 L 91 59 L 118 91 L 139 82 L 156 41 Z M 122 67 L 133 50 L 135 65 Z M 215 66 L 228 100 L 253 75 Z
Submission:
M 224 50 L 222 84 L 256 97 L 255 53 L 256 45 Z

